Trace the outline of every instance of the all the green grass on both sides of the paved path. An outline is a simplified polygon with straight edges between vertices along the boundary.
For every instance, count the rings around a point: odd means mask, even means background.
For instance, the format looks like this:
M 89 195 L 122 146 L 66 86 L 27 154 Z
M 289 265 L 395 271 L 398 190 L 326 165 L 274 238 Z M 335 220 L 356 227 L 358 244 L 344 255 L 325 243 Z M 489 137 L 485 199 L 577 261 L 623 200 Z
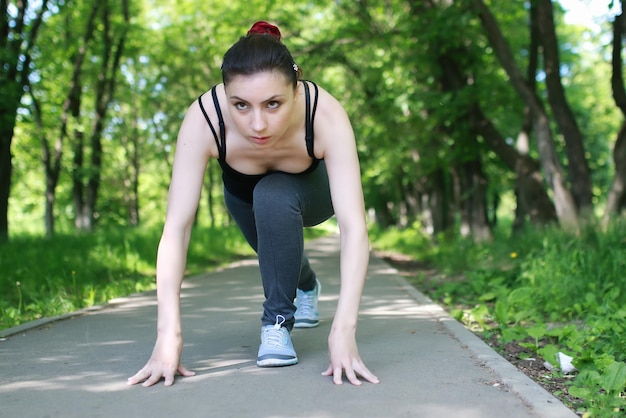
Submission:
M 331 225 L 332 227 L 332 225 Z M 308 238 L 328 230 L 307 230 Z M 483 336 L 517 342 L 552 363 L 574 357 L 570 406 L 587 417 L 626 411 L 626 225 L 578 236 L 558 229 L 497 232 L 493 242 L 373 229 L 377 249 L 408 255 L 437 275 L 414 285 Z M 0 329 L 153 289 L 160 230 L 110 229 L 0 246 Z M 193 232 L 187 274 L 253 253 L 235 227 Z M 548 373 L 548 372 L 546 372 Z M 555 395 L 559 395 L 558 393 Z

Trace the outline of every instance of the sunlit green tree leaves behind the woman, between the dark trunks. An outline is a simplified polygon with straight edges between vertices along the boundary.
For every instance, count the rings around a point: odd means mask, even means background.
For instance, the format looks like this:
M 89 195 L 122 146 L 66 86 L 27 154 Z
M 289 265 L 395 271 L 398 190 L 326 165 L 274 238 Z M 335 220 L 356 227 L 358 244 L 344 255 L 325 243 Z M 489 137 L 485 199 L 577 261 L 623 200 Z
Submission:
M 528 2 L 488 3 L 523 70 L 529 56 Z M 76 137 L 88 134 L 94 124 L 104 42 L 101 23 L 85 40 L 88 16 L 97 4 L 77 0 L 69 7 L 62 2 L 51 8 L 41 27 L 31 63 L 32 97 L 22 100 L 13 139 L 11 233 L 43 230 L 46 179 L 41 141 L 47 138 L 50 146 L 57 145 L 63 129 L 53 215 L 58 232 L 74 228 Z M 511 170 L 468 129 L 468 109 L 478 104 L 512 145 L 523 106 L 467 2 L 131 0 L 131 22 L 123 27 L 121 6 L 109 6 L 112 29 L 123 30 L 128 38 L 104 121 L 97 227 L 130 225 L 128 202 L 133 198 L 144 225 L 160 222 L 183 115 L 193 100 L 221 81 L 224 52 L 257 19 L 280 25 L 305 78 L 317 81 L 346 107 L 357 137 L 366 205 L 376 210 L 380 222 L 405 225 L 419 219 L 419 201 L 430 193 L 433 173 L 444 173 L 442 182 L 452 193 L 456 186 L 450 173 L 468 158 L 480 158 L 490 196 L 514 187 Z M 100 17 L 96 21 L 101 22 Z M 558 7 L 556 23 L 563 83 L 584 132 L 594 203 L 601 208 L 613 176 L 610 151 L 620 123 L 610 83 L 602 82 L 610 79 L 603 40 L 609 28 L 605 24 L 602 33 L 594 33 L 566 24 Z M 81 50 L 86 56 L 78 79 L 80 112 L 63 128 L 63 106 Z M 457 70 L 458 85 L 451 86 L 446 74 Z M 545 86 L 537 78 L 543 97 Z M 35 123 L 33 98 L 41 105 L 42 126 Z M 89 148 L 87 143 L 86 161 Z M 533 147 L 531 155 L 537 157 Z M 79 177 L 90 170 L 93 167 L 85 166 Z M 215 164 L 209 170 L 213 178 L 219 177 Z M 137 196 L 131 181 L 135 172 Z M 219 195 L 217 183 L 207 189 Z M 457 203 L 448 200 L 450 205 L 444 206 L 454 211 L 449 206 Z

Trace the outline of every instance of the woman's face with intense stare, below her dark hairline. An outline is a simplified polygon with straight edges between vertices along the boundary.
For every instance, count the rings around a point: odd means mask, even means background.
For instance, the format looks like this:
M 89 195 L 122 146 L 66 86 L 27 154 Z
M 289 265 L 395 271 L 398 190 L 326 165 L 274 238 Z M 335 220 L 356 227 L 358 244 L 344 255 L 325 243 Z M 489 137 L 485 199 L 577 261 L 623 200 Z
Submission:
M 230 115 L 239 133 L 252 144 L 269 147 L 279 141 L 294 115 L 296 90 L 277 71 L 240 75 L 226 86 Z

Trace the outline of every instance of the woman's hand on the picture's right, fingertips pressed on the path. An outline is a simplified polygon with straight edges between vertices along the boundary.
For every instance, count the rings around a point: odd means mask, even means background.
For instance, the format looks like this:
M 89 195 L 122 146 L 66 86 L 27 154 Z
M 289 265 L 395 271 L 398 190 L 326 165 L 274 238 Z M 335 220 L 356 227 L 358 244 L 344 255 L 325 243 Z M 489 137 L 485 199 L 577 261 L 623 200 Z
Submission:
M 343 383 L 344 371 L 348 381 L 355 386 L 362 383 L 357 375 L 370 383 L 379 383 L 378 377 L 374 376 L 361 360 L 353 333 L 332 330 L 328 336 L 328 353 L 330 364 L 322 375 L 332 376 L 336 385 Z

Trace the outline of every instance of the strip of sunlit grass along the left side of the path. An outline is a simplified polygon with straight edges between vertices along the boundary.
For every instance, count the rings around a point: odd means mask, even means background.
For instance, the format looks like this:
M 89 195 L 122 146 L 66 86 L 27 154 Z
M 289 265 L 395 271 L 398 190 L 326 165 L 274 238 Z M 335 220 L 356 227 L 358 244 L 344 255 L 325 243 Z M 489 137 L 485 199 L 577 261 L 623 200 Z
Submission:
M 15 237 L 0 246 L 0 329 L 154 289 L 159 235 L 125 228 Z M 235 227 L 195 228 L 187 274 L 251 254 Z

